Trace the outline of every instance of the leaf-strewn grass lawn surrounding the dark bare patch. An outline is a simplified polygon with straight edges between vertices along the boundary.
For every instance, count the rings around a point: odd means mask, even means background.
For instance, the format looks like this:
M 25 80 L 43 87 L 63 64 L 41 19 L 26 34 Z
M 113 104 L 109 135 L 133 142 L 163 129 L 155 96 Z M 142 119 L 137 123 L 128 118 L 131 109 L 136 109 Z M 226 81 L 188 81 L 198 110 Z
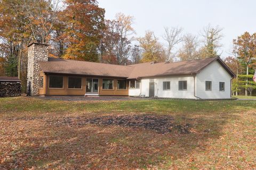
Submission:
M 167 133 L 84 123 L 170 117 Z M 189 124 L 189 133 L 175 127 Z M 256 101 L 0 98 L 0 169 L 255 169 Z

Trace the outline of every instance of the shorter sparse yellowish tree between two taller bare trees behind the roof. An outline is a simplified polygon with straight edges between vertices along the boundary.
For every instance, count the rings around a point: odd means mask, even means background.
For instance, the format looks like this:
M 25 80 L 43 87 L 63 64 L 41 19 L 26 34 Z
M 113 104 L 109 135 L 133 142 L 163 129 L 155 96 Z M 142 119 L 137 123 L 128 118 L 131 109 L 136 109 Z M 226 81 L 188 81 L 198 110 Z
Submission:
M 198 55 L 198 40 L 196 36 L 187 34 L 183 37 L 183 44 L 179 50 L 179 58 L 181 61 L 196 60 L 201 56 Z

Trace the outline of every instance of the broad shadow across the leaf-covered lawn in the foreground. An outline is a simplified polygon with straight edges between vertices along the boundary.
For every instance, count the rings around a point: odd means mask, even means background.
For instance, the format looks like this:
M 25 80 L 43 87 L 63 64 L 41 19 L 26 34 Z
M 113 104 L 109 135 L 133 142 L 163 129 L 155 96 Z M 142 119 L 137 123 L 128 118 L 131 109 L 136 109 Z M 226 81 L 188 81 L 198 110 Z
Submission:
M 231 113 L 164 113 L 176 123 L 191 124 L 191 133 L 176 130 L 159 134 L 142 128 L 109 125 L 49 125 L 42 120 L 38 128 L 24 126 L 25 142 L 2 158 L 1 169 L 11 168 L 61 168 L 67 169 L 134 169 L 164 167 L 175 160 L 187 161 L 194 151 L 203 151 L 206 141 L 218 139 L 228 120 L 236 119 Z M 58 121 L 59 117 L 52 117 Z M 33 120 L 28 120 L 33 121 Z M 13 122 L 12 122 L 13 123 Z M 17 122 L 18 123 L 18 122 Z M 32 122 L 33 123 L 33 122 Z M 31 122 L 30 122 L 31 124 Z M 38 133 L 37 137 L 32 132 Z M 1 157 L 0 157 L 1 158 Z

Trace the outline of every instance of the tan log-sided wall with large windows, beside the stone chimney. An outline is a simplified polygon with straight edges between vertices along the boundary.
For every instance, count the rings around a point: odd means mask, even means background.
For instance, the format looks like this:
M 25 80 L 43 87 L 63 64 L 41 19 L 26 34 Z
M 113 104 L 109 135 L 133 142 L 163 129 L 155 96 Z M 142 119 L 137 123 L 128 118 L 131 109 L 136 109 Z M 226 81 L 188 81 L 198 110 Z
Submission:
M 42 75 L 44 75 L 42 73 Z M 63 76 L 63 88 L 49 88 L 49 75 L 45 75 L 45 83 L 44 88 L 40 89 L 40 95 L 43 95 L 43 91 L 45 89 L 45 95 L 85 95 L 86 94 L 86 77 L 82 78 L 82 88 L 81 89 L 68 89 L 68 77 L 69 76 Z M 74 75 L 70 75 L 70 77 L 74 77 Z M 79 76 L 77 76 L 79 77 Z M 93 77 L 97 78 L 97 77 Z M 105 95 L 105 96 L 128 96 L 128 83 L 126 84 L 126 89 L 117 89 L 117 80 L 119 79 L 113 79 L 114 80 L 114 89 L 102 89 L 102 78 L 99 79 L 99 95 Z M 104 79 L 112 79 L 112 78 L 104 78 Z

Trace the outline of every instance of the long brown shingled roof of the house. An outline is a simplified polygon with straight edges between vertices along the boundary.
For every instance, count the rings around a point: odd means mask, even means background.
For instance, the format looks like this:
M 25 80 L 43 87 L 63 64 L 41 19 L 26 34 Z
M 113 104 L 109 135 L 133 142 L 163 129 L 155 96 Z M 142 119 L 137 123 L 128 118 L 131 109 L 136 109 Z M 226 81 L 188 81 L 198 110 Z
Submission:
M 174 63 L 151 62 L 128 66 L 49 58 L 49 62 L 39 62 L 39 65 L 45 73 L 96 75 L 139 79 L 143 77 L 157 77 L 164 75 L 195 74 L 200 72 L 205 66 L 209 65 L 213 61 L 218 61 L 227 70 L 231 77 L 235 77 L 235 74 L 219 57 Z

